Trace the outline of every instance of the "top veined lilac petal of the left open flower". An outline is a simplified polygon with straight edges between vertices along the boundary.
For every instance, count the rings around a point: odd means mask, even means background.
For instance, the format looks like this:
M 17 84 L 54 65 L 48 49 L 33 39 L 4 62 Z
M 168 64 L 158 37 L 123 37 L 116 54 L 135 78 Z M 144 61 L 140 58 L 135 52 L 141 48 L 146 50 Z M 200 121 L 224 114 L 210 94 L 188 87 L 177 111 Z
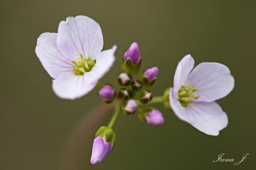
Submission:
M 60 22 L 57 45 L 61 53 L 72 60 L 78 59 L 78 53 L 93 58 L 103 47 L 100 25 L 89 17 L 68 17 L 67 21 Z

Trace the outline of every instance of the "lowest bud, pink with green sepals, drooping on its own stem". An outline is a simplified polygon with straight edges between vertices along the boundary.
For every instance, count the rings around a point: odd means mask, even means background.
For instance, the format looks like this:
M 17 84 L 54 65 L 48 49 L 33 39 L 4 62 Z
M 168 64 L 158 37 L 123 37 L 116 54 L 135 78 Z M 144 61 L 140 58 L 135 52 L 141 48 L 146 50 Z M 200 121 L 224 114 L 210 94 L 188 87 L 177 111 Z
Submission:
M 113 129 L 104 126 L 100 127 L 93 141 L 91 163 L 101 162 L 112 150 L 115 141 L 116 134 L 113 132 Z

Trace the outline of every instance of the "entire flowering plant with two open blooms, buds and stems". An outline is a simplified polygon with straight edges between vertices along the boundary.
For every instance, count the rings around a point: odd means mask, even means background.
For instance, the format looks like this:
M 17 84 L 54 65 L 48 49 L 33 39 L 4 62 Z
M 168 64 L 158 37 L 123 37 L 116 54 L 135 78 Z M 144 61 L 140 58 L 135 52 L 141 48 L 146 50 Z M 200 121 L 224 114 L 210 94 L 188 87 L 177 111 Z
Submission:
M 141 122 L 154 126 L 164 123 L 161 111 L 147 104 L 163 103 L 168 110 L 199 131 L 217 136 L 227 127 L 228 118 L 216 100 L 227 96 L 234 88 L 234 78 L 227 66 L 215 62 L 203 62 L 193 69 L 191 55 L 180 60 L 175 71 L 173 87 L 163 90 L 163 96 L 153 96 L 152 87 L 159 73 L 151 67 L 140 73 L 141 55 L 138 43 L 132 43 L 122 57 L 122 69 L 118 74 L 120 88 L 102 85 L 100 78 L 115 61 L 114 45 L 102 51 L 103 36 L 99 24 L 84 16 L 68 17 L 60 22 L 58 33 L 46 32 L 37 40 L 36 55 L 45 70 L 53 78 L 52 89 L 62 99 L 77 99 L 92 89 L 99 89 L 105 103 L 114 103 L 115 113 L 108 126 L 102 126 L 95 134 L 91 163 L 100 162 L 113 149 L 116 134 L 113 127 L 121 110 L 125 115 L 138 112 Z

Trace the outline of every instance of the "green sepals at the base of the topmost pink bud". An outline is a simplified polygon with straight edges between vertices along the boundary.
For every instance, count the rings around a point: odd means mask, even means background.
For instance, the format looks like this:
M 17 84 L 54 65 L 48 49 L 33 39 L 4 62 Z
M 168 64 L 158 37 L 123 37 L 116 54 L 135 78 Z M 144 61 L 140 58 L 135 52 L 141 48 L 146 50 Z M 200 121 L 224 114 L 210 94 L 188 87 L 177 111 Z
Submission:
M 141 59 L 137 64 L 133 64 L 131 59 L 124 61 L 124 57 L 122 59 L 122 69 L 129 74 L 137 74 L 140 71 Z

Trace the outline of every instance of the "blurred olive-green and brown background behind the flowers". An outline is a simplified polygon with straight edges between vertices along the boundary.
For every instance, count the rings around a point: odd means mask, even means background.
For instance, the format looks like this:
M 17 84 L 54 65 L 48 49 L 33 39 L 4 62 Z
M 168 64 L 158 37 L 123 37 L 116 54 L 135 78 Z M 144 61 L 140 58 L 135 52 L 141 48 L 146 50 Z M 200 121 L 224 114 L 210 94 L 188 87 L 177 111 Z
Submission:
M 256 1 L 249 0 L 1 0 L 0 169 L 255 169 L 255 7 Z M 90 165 L 93 134 L 109 120 L 105 115 L 91 121 L 95 127 L 83 125 L 102 104 L 97 90 L 76 101 L 56 97 L 35 55 L 40 34 L 57 32 L 61 20 L 76 15 L 100 24 L 104 49 L 118 46 L 104 83 L 116 82 L 120 59 L 133 41 L 140 44 L 142 69 L 159 67 L 152 88 L 156 96 L 173 85 L 177 63 L 188 53 L 196 64 L 228 66 L 235 89 L 218 101 L 228 127 L 219 136 L 207 136 L 158 104 L 164 125 L 153 127 L 122 114 L 115 148 L 100 164 Z M 81 140 L 72 139 L 76 131 Z M 238 166 L 212 162 L 220 153 L 235 160 L 250 155 Z

